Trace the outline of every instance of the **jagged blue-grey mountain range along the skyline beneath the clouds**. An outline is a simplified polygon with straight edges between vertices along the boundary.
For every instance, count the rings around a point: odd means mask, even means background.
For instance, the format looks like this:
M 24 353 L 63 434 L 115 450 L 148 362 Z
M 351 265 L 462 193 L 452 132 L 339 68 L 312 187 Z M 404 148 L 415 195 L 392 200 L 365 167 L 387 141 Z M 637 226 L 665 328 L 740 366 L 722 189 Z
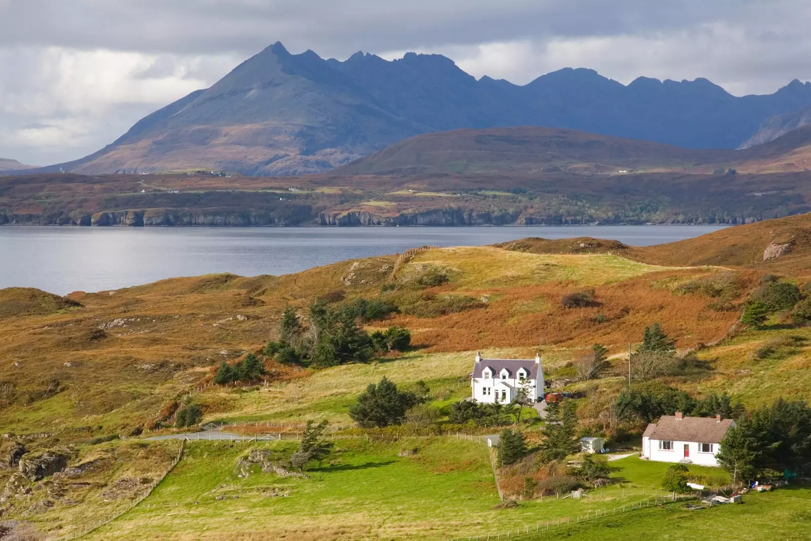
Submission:
M 706 79 L 623 85 L 566 68 L 517 86 L 474 79 L 440 55 L 345 62 L 280 43 L 211 88 L 137 122 L 113 144 L 39 172 L 324 171 L 411 135 L 458 128 L 543 126 L 686 148 L 736 148 L 775 114 L 811 106 L 811 84 L 734 97 Z

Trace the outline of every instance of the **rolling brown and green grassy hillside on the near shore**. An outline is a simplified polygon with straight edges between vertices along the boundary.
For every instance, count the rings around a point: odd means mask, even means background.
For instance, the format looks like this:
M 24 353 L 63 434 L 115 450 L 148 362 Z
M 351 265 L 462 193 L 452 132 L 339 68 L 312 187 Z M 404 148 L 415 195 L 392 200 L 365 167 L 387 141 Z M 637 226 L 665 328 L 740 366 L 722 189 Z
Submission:
M 688 510 L 664 503 L 667 463 L 633 456 L 645 423 L 620 418 L 616 403 L 629 386 L 624 354 L 652 322 L 676 341 L 676 357 L 667 359 L 680 369 L 647 377 L 635 371 L 627 392 L 661 390 L 680 401 L 663 408 L 725 396 L 748 411 L 787 395 L 811 396 L 811 327 L 785 313 L 757 327 L 738 323 L 767 270 L 754 255 L 792 235 L 796 246 L 776 261 L 808 255 L 800 234 L 809 221 L 743 225 L 644 253 L 613 241 L 527 238 L 424 247 L 281 277 L 183 277 L 67 298 L 0 290 L 0 533 L 42 541 L 547 539 L 543 517 L 552 535 L 571 539 L 594 539 L 595 532 L 648 539 L 654 527 L 677 536 L 689 523 L 712 532 L 695 538 L 704 541 L 732 534 L 741 522 L 802 539 L 809 491 L 800 483 L 749 492 L 745 505 Z M 689 264 L 701 258 L 724 266 Z M 809 272 L 806 265 L 784 279 L 802 284 Z M 439 274 L 444 283 L 424 280 Z M 571 294 L 586 294 L 590 303 L 564 307 Z M 316 298 L 332 308 L 357 306 L 359 298 L 397 306 L 384 320 L 358 320 L 368 333 L 409 328 L 411 347 L 332 367 L 265 355 L 281 311 L 294 307 L 307 327 Z M 575 367 L 595 343 L 607 348 L 609 366 L 582 379 Z M 532 475 L 551 467 L 539 465 L 538 455 L 494 472 L 481 436 L 508 427 L 535 446 L 543 443 L 543 424 L 532 408 L 495 427 L 451 421 L 453 404 L 469 396 L 477 350 L 502 358 L 540 351 L 547 383 L 572 393 L 578 432 L 627 449 L 611 462 L 616 471 L 581 500 L 556 497 L 555 486 L 527 490 Z M 213 383 L 217 367 L 249 352 L 263 363 L 260 379 Z M 354 426 L 349 406 L 383 377 L 401 390 L 427 389 L 426 402 L 402 425 Z M 183 436 L 195 427 L 175 426 L 178 411 L 192 407 L 204 422 L 227 423 L 231 437 Z M 294 438 L 320 420 L 328 421 L 331 452 L 291 474 Z M 268 432 L 273 440 L 256 439 Z M 721 469 L 690 464 L 689 472 L 710 487 L 729 483 Z M 520 504 L 501 504 L 499 490 L 520 495 Z M 471 521 L 471 505 L 487 513 Z

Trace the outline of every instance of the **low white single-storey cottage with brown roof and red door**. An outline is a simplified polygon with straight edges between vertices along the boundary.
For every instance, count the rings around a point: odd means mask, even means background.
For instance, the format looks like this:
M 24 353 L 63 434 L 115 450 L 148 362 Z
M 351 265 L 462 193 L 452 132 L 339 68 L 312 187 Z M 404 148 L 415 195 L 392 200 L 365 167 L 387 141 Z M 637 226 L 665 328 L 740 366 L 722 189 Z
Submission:
M 732 419 L 721 419 L 720 415 L 714 418 L 684 417 L 680 411 L 675 415 L 663 415 L 658 423 L 650 423 L 642 434 L 642 458 L 718 466 L 715 455 L 723 436 L 733 426 Z

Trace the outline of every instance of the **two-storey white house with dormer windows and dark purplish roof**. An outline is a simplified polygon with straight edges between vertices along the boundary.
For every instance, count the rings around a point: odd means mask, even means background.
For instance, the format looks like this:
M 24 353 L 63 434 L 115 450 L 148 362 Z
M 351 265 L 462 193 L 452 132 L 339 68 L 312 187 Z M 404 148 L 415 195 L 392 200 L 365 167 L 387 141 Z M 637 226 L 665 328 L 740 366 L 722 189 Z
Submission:
M 506 404 L 515 399 L 521 388 L 526 390 L 530 401 L 543 400 L 540 355 L 535 355 L 535 359 L 482 359 L 476 354 L 470 374 L 470 390 L 475 401 Z

